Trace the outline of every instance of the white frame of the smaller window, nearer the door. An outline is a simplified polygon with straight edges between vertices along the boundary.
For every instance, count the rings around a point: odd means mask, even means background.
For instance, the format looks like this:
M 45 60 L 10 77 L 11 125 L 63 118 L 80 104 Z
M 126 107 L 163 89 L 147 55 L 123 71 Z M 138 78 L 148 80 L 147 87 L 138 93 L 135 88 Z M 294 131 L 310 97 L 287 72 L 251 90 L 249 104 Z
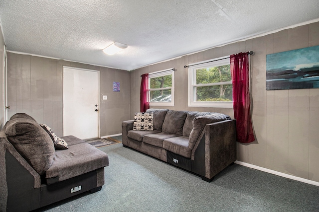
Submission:
M 156 71 L 149 73 L 149 90 L 148 90 L 148 95 L 149 95 L 149 101 L 150 101 L 150 106 L 174 106 L 174 70 L 173 69 L 166 69 L 166 70 L 161 70 L 161 71 Z M 166 75 L 171 75 L 171 87 L 165 87 L 165 88 L 151 88 L 151 78 L 156 78 L 160 76 L 166 76 Z M 170 102 L 151 102 L 151 91 L 156 91 L 156 90 L 169 90 L 171 91 L 171 101 Z

